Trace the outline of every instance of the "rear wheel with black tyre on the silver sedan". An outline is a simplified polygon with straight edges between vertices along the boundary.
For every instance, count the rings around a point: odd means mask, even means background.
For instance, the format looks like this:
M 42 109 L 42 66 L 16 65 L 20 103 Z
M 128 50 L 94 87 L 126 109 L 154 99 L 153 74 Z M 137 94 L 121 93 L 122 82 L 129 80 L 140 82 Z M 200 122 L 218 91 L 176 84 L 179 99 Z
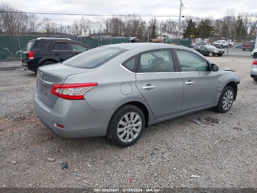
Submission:
M 134 105 L 124 105 L 113 114 L 107 129 L 107 138 L 121 146 L 128 147 L 144 132 L 144 113 Z

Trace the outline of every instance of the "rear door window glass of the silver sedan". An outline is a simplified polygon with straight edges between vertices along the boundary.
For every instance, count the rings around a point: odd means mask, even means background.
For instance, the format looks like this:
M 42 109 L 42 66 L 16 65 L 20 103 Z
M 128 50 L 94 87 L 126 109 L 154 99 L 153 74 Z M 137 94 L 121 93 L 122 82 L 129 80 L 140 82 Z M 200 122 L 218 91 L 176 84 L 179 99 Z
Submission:
M 142 54 L 138 72 L 175 72 L 170 50 L 159 50 Z

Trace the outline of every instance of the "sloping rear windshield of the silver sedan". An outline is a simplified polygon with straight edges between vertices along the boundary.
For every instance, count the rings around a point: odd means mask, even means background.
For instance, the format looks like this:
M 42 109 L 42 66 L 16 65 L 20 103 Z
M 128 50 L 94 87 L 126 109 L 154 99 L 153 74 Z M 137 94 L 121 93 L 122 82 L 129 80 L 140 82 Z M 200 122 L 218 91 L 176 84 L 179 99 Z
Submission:
M 126 51 L 122 48 L 98 47 L 72 57 L 62 64 L 76 68 L 96 68 Z

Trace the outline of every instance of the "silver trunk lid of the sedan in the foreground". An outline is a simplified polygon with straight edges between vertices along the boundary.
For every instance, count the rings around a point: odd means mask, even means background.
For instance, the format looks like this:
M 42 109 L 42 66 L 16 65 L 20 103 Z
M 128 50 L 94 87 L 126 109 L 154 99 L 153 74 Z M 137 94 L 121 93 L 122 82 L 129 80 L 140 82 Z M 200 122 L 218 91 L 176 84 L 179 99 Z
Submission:
M 37 87 L 39 98 L 51 108 L 54 107 L 57 96 L 51 94 L 54 84 L 62 84 L 64 80 L 73 74 L 88 72 L 91 69 L 75 68 L 60 63 L 41 66 L 37 70 Z

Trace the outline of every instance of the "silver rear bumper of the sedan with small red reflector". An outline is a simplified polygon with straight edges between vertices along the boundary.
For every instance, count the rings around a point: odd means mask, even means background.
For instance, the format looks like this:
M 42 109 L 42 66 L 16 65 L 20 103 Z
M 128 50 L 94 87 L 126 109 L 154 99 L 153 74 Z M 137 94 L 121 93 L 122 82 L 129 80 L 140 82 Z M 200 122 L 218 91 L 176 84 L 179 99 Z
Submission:
M 51 108 L 38 97 L 37 89 L 33 96 L 33 106 L 40 121 L 63 138 L 105 136 L 109 120 L 116 110 L 93 110 L 86 100 L 63 98 L 58 98 L 54 108 Z

